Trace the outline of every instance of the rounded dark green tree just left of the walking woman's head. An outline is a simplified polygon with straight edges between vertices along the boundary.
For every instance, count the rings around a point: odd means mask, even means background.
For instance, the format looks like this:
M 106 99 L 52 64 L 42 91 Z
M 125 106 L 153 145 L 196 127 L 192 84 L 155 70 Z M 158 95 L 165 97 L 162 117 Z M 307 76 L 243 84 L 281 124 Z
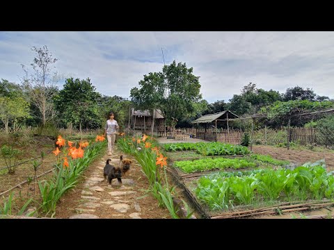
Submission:
M 63 90 L 54 97 L 56 110 L 65 124 L 74 124 L 81 127 L 100 127 L 99 108 L 97 100 L 100 94 L 95 92 L 95 86 L 90 78 L 80 81 L 79 78 L 67 78 Z

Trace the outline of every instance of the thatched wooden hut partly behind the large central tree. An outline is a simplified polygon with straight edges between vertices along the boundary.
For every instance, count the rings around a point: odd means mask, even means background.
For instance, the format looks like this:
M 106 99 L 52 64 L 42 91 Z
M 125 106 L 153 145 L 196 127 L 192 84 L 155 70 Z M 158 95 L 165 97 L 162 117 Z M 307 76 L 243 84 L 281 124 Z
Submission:
M 161 110 L 134 110 L 131 109 L 130 127 L 134 130 L 154 131 L 164 130 L 165 118 L 161 115 Z

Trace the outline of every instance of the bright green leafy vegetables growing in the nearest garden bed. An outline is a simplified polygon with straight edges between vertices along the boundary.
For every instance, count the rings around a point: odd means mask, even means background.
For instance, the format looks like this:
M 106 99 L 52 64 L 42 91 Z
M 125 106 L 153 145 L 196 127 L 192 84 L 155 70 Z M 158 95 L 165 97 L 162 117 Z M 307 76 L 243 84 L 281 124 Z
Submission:
M 269 201 L 334 199 L 334 176 L 324 161 L 295 169 L 256 169 L 201 177 L 196 196 L 211 210 Z

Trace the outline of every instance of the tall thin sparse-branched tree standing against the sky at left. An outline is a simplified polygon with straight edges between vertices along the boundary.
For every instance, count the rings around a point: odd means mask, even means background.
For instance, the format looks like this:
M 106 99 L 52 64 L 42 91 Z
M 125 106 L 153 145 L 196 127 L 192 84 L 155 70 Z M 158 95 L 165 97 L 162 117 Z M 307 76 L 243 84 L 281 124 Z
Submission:
M 22 64 L 22 69 L 26 73 L 23 77 L 23 84 L 26 90 L 29 91 L 31 102 L 40 110 L 42 124 L 45 126 L 47 120 L 52 117 L 53 109 L 52 98 L 54 92 L 52 90 L 54 88 L 48 87 L 53 84 L 57 74 L 56 72 L 52 72 L 54 76 L 50 77 L 50 67 L 58 59 L 52 57 L 46 45 L 42 48 L 32 47 L 31 50 L 37 54 L 33 58 L 33 63 L 31 63 L 34 73 L 29 75 L 28 69 Z

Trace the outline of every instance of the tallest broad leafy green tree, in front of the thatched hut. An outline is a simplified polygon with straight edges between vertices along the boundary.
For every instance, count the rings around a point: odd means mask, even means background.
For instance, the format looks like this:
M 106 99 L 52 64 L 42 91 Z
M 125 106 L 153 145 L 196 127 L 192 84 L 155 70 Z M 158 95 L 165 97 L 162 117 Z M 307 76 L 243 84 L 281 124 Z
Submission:
M 199 78 L 193 75 L 192 67 L 174 60 L 162 73 L 144 75 L 138 83 L 141 88 L 132 88 L 130 97 L 136 108 L 159 108 L 170 124 L 172 117 L 181 120 L 196 110 L 196 103 L 202 99 Z

